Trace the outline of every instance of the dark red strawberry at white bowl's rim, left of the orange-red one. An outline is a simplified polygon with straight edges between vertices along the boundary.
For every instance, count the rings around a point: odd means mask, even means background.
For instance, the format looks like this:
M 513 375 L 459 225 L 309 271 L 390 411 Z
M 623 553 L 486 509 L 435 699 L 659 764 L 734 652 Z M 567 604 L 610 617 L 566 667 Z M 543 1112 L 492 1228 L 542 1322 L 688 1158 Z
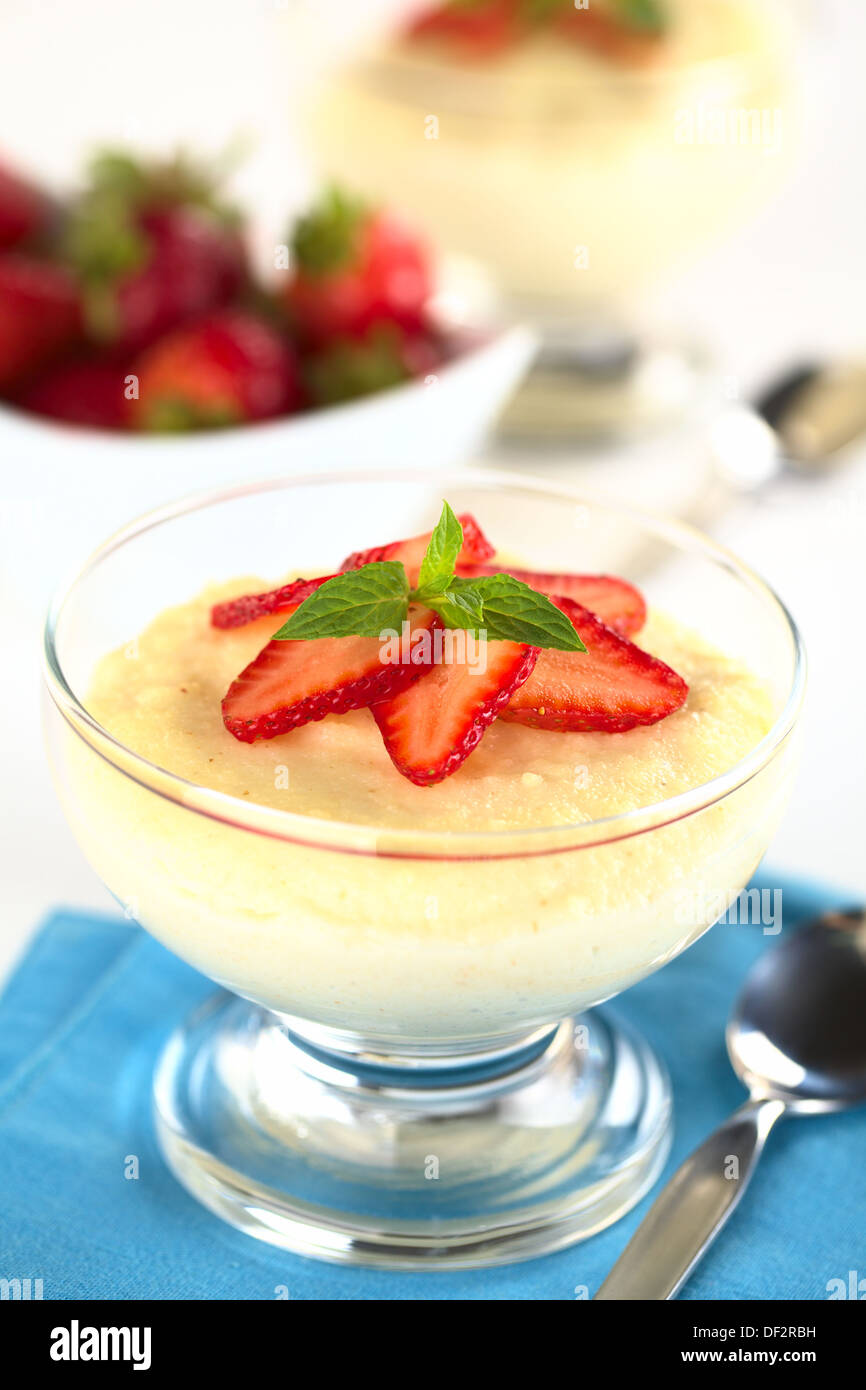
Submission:
M 104 357 L 82 357 L 49 367 L 18 396 L 33 414 L 92 430 L 124 430 L 129 423 L 126 368 Z

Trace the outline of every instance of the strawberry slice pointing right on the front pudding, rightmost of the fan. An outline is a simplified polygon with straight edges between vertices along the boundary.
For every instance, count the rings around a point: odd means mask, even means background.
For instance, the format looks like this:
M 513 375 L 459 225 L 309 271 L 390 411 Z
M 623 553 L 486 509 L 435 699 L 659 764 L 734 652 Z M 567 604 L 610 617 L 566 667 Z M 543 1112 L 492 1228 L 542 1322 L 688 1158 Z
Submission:
M 685 702 L 688 685 L 670 666 L 606 627 L 573 599 L 553 598 L 585 652 L 544 651 L 502 717 L 532 728 L 619 734 L 655 724 Z

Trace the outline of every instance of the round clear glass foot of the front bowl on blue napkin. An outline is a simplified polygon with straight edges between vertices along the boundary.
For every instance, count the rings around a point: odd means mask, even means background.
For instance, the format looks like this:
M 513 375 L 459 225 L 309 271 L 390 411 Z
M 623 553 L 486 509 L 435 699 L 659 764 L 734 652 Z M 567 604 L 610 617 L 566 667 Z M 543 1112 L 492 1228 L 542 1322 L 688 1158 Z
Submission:
M 500 1265 L 623 1216 L 670 1147 L 666 1072 L 591 1011 L 481 1061 L 329 1052 L 217 995 L 167 1044 L 165 1159 L 250 1236 L 391 1269 Z M 488 1059 L 484 1061 L 484 1056 Z

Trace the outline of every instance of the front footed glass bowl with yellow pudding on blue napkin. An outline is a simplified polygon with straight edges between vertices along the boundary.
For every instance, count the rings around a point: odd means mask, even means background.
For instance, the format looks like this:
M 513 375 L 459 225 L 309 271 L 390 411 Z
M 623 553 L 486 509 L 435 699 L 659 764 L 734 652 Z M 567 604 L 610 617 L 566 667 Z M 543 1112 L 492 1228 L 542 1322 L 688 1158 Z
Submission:
M 220 699 L 281 620 L 218 631 L 211 605 L 430 528 L 443 493 L 521 564 L 639 584 L 635 641 L 685 705 L 620 734 L 496 720 L 435 787 L 399 776 L 367 709 L 236 742 Z M 108 541 L 51 607 L 46 680 L 85 853 L 231 991 L 156 1077 L 203 1202 L 304 1254 L 439 1268 L 566 1245 L 651 1186 L 664 1069 L 594 1006 L 724 912 L 785 805 L 802 649 L 748 569 L 513 475 L 270 480 Z

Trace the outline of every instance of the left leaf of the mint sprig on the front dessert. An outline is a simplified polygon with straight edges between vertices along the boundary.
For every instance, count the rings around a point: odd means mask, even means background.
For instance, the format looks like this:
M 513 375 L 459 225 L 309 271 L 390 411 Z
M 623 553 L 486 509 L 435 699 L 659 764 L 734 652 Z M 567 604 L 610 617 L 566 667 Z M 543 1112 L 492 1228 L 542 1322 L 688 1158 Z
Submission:
M 400 630 L 409 613 L 409 580 L 399 560 L 377 560 L 336 574 L 295 609 L 274 641 L 378 637 Z

